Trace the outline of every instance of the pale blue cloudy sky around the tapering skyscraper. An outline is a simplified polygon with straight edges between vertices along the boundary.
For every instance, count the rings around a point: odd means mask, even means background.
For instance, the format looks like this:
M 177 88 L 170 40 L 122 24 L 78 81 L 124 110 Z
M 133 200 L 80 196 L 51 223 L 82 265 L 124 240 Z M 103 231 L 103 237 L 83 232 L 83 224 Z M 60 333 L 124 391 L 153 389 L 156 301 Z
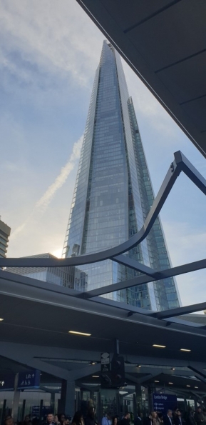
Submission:
M 105 37 L 75 0 L 1 0 L 1 220 L 7 256 L 61 256 Z M 205 159 L 123 61 L 155 194 L 182 151 Z M 206 198 L 183 174 L 160 214 L 172 266 L 205 258 Z M 177 276 L 182 305 L 205 300 L 206 272 Z

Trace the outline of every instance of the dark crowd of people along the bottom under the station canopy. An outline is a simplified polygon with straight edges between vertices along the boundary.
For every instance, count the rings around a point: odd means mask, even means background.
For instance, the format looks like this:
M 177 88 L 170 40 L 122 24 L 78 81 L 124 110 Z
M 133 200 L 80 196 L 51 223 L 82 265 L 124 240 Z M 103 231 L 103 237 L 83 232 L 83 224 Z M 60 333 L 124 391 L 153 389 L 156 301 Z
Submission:
M 132 420 L 131 420 L 132 419 Z M 65 414 L 53 415 L 49 413 L 45 421 L 39 421 L 34 418 L 31 420 L 29 415 L 25 416 L 24 421 L 17 425 L 206 425 L 206 409 L 201 409 L 199 406 L 197 411 L 190 411 L 182 415 L 180 409 L 175 411 L 168 410 L 164 416 L 158 411 L 151 411 L 148 416 L 143 413 L 137 414 L 135 417 L 130 417 L 128 411 L 120 418 L 119 416 L 112 416 L 105 414 L 101 421 L 96 419 L 96 411 L 93 406 L 88 409 L 86 416 L 83 416 L 81 411 L 76 411 L 73 419 L 66 417 Z M 14 425 L 12 416 L 6 416 L 4 425 Z

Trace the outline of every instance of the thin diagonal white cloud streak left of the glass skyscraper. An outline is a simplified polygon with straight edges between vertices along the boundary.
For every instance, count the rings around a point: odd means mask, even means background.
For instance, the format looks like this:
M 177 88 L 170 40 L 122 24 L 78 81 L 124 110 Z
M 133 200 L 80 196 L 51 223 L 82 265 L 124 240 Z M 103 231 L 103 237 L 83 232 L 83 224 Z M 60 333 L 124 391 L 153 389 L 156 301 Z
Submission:
M 41 196 L 41 198 L 38 199 L 38 201 L 36 202 L 36 204 L 34 206 L 33 211 L 31 212 L 31 214 L 29 214 L 28 219 L 26 219 L 26 221 L 24 221 L 24 223 L 22 223 L 20 226 L 18 226 L 17 229 L 14 230 L 14 233 L 11 234 L 11 238 L 13 240 L 14 240 L 14 238 L 16 238 L 17 235 L 19 235 L 21 233 L 21 231 L 24 230 L 24 228 L 28 224 L 30 224 L 33 216 L 36 216 L 36 214 L 38 214 L 38 216 L 39 216 L 39 214 L 45 213 L 46 209 L 48 208 L 48 205 L 51 203 L 53 197 L 55 196 L 56 191 L 58 191 L 58 189 L 60 189 L 61 186 L 63 186 L 63 184 L 66 182 L 66 179 L 68 178 L 69 174 L 74 169 L 76 161 L 80 157 L 82 142 L 83 142 L 83 136 L 81 136 L 80 139 L 78 139 L 78 141 L 76 141 L 75 144 L 73 145 L 72 154 L 71 154 L 70 158 L 68 159 L 66 165 L 62 167 L 60 173 L 56 177 L 53 184 L 48 186 L 48 189 L 43 194 L 43 196 Z

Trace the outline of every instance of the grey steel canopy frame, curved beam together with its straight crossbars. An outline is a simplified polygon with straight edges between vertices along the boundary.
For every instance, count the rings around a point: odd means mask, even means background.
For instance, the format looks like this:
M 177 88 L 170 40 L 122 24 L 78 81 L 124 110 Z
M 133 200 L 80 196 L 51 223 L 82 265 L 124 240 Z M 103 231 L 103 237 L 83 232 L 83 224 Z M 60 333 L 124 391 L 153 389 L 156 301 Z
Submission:
M 103 286 L 98 289 L 93 289 L 92 291 L 79 292 L 73 291 L 73 296 L 76 296 L 80 299 L 93 299 L 97 301 L 96 297 L 101 296 L 103 294 L 108 294 L 113 291 L 119 291 L 120 289 L 126 289 L 131 286 L 138 286 L 141 284 L 146 284 L 151 281 L 161 280 L 172 276 L 177 276 L 180 274 L 190 273 L 191 271 L 205 269 L 206 268 L 206 259 L 195 261 L 189 264 L 182 264 L 181 266 L 172 267 L 170 269 L 165 270 L 155 270 L 144 264 L 139 263 L 133 259 L 130 259 L 128 256 L 123 255 L 128 252 L 133 247 L 140 244 L 141 241 L 148 236 L 148 233 L 153 227 L 155 219 L 157 219 L 160 210 L 165 204 L 168 195 L 172 189 L 172 186 L 175 184 L 175 181 L 180 173 L 183 171 L 186 176 L 197 186 L 203 194 L 206 195 L 206 180 L 204 177 L 195 169 L 194 166 L 188 161 L 188 159 L 182 154 L 181 151 L 177 151 L 174 154 L 175 159 L 172 161 L 168 173 L 165 176 L 163 184 L 158 191 L 158 195 L 153 202 L 153 206 L 150 209 L 150 212 L 145 219 L 143 227 L 135 234 L 132 238 L 128 239 L 128 241 L 123 242 L 118 246 L 114 246 L 110 249 L 105 249 L 103 251 L 99 251 L 93 254 L 86 254 L 82 256 L 70 257 L 66 259 L 53 259 L 53 258 L 6 258 L 0 259 L 0 268 L 1 267 L 63 267 L 63 266 L 81 266 L 83 264 L 92 264 L 98 261 L 103 261 L 105 259 L 110 259 L 118 262 L 119 264 L 123 264 L 125 266 L 129 266 L 135 271 L 139 271 L 141 274 L 139 276 L 134 277 L 133 279 L 128 279 L 126 281 L 121 281 L 116 284 L 111 284 L 108 286 Z M 6 277 L 6 276 L 5 276 Z M 9 276 L 8 276 L 9 277 Z M 98 299 L 100 301 L 100 299 Z M 108 304 L 109 300 L 101 299 L 102 303 Z M 119 308 L 123 307 L 122 303 Z M 117 305 L 116 305 L 117 306 Z M 166 311 L 148 311 L 145 309 L 135 308 L 133 306 L 128 306 L 128 316 L 141 313 L 146 314 L 148 316 L 156 317 L 157 319 L 170 319 L 175 318 L 175 316 L 181 316 L 184 314 L 193 313 L 195 311 L 201 311 L 206 309 L 206 301 L 200 304 L 194 304 L 190 306 L 183 306 L 176 309 L 170 309 Z M 178 322 L 176 319 L 172 319 L 168 321 L 170 322 Z M 206 329 L 206 326 L 199 326 L 199 324 L 193 324 L 192 322 L 184 321 L 187 326 L 198 326 L 202 329 Z

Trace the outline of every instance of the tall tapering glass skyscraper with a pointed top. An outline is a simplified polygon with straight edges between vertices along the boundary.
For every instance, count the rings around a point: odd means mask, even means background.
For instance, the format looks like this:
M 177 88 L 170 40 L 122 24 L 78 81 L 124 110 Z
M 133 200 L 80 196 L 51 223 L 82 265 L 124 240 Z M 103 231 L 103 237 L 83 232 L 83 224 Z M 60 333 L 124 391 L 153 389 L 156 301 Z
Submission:
M 120 56 L 104 41 L 63 256 L 101 251 L 126 241 L 143 226 L 153 200 L 153 187 Z M 127 255 L 154 269 L 170 267 L 159 218 L 148 237 Z M 101 261 L 78 267 L 74 288 L 88 291 L 138 274 L 114 261 Z M 113 292 L 106 297 L 153 310 L 180 306 L 173 278 Z

